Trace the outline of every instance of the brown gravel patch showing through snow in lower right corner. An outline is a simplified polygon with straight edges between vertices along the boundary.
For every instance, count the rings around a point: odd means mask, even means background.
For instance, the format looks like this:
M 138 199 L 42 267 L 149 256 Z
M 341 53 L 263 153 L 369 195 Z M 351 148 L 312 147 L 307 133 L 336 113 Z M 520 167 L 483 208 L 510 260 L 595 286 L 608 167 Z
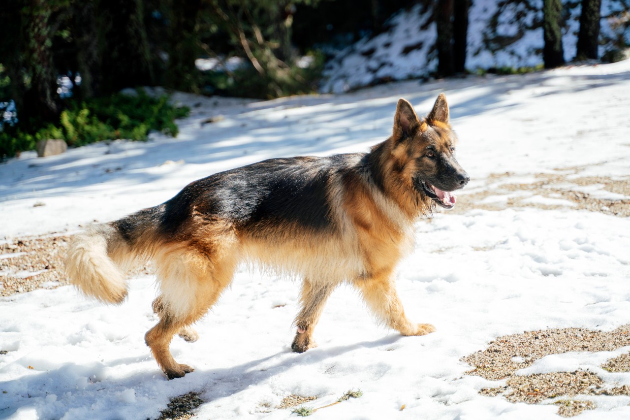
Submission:
M 558 414 L 571 417 L 582 411 L 595 409 L 588 400 L 575 400 L 577 395 L 628 395 L 630 387 L 610 387 L 593 372 L 553 372 L 534 375 L 515 375 L 519 369 L 531 366 L 536 360 L 549 354 L 570 351 L 613 351 L 630 345 L 630 324 L 610 332 L 581 328 L 549 329 L 505 335 L 491 341 L 483 351 L 470 354 L 462 361 L 474 366 L 468 375 L 482 376 L 488 380 L 505 379 L 505 386 L 483 388 L 481 395 L 503 395 L 510 402 L 541 404 L 562 397 Z M 630 371 L 630 354 L 612 358 L 602 365 L 610 371 Z M 617 370 L 618 369 L 618 370 Z

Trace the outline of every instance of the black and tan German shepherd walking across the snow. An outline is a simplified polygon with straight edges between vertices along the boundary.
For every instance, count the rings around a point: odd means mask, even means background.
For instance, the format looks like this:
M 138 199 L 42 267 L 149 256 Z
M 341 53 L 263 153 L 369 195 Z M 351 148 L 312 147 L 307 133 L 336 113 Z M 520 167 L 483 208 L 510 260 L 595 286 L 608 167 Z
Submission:
M 67 275 L 85 295 L 121 303 L 125 270 L 154 261 L 159 322 L 145 340 L 168 378 L 193 371 L 173 359 L 171 339 L 197 339 L 190 325 L 243 260 L 303 279 L 296 352 L 316 346 L 313 330 L 343 282 L 384 325 L 428 334 L 433 325 L 405 316 L 394 269 L 413 247 L 416 219 L 436 205 L 452 208 L 453 191 L 469 180 L 455 160 L 456 141 L 443 93 L 423 119 L 400 99 L 391 137 L 369 153 L 270 159 L 192 182 L 159 206 L 76 235 Z

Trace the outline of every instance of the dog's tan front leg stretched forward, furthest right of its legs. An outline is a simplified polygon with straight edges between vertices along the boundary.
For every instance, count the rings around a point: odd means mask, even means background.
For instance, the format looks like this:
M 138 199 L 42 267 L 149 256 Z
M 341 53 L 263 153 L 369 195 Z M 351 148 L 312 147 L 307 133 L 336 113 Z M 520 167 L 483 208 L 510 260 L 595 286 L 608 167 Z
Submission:
M 381 276 L 356 279 L 354 285 L 365 303 L 379 320 L 403 335 L 425 335 L 435 331 L 431 324 L 414 324 L 404 315 L 403 303 L 398 298 L 391 271 Z

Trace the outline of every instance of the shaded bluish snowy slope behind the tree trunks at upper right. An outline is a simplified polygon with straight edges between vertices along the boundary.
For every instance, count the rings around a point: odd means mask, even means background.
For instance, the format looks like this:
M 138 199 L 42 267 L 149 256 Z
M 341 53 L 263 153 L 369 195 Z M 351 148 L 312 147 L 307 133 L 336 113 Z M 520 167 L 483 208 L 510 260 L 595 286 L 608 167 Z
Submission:
M 562 2 L 564 59 L 575 58 L 580 30 L 579 3 Z M 627 0 L 602 0 L 600 57 L 630 43 Z M 622 11 L 626 11 L 623 13 Z M 382 81 L 427 78 L 437 70 L 437 28 L 430 3 L 418 3 L 394 14 L 387 30 L 364 37 L 326 64 L 322 92 L 341 93 Z M 542 1 L 476 0 L 469 9 L 466 69 L 535 67 L 542 64 Z

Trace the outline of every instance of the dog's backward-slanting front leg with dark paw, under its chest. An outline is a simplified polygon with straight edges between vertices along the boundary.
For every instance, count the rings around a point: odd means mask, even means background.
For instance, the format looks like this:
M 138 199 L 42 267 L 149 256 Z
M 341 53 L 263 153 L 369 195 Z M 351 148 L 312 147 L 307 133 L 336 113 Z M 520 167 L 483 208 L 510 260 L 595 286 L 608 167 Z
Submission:
M 317 347 L 312 339 L 315 325 L 321 317 L 326 300 L 339 283 L 314 283 L 309 279 L 304 279 L 302 291 L 300 293 L 301 310 L 295 317 L 294 324 L 297 326 L 297 333 L 291 348 L 297 353 L 304 353 L 312 347 Z

